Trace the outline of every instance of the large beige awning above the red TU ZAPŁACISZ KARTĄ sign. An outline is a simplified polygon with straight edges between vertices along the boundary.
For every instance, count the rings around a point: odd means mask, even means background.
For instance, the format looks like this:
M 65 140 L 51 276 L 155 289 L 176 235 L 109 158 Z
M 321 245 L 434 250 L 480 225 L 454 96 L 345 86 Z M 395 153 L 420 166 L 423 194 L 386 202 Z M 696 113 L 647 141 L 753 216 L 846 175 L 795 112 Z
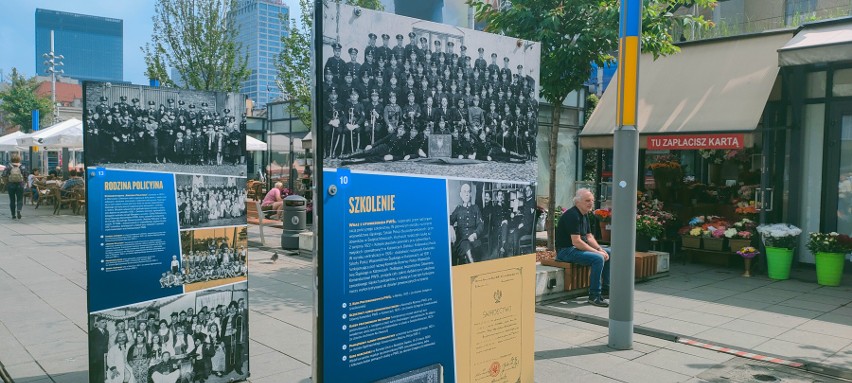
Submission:
M 684 44 L 681 52 L 639 61 L 639 145 L 650 135 L 746 133 L 751 146 L 778 74 L 776 52 L 792 31 Z M 611 149 L 617 77 L 580 133 L 584 149 Z

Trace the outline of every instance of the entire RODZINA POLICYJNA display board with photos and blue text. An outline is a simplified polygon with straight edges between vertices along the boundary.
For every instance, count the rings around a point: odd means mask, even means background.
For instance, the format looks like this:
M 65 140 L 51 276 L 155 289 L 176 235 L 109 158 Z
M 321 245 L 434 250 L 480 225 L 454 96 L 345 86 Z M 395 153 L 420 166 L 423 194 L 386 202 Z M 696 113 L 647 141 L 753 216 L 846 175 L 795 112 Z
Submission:
M 83 93 L 88 381 L 245 380 L 244 97 L 95 82 Z

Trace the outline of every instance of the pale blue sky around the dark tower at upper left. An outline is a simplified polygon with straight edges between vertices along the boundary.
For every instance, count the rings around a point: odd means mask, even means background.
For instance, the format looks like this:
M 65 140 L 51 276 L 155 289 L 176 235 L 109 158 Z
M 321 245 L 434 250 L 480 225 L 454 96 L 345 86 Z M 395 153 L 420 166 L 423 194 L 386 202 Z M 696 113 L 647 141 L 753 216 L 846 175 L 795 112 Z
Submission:
M 140 47 L 151 40 L 155 0 L 13 0 L 4 1 L 0 22 L 0 70 L 8 75 L 15 67 L 27 76 L 36 71 L 36 8 L 75 12 L 124 20 L 124 80 L 148 84 Z M 298 0 L 284 0 L 292 17 L 300 13 Z M 58 52 L 62 53 L 62 52 Z M 43 72 L 42 68 L 38 68 Z

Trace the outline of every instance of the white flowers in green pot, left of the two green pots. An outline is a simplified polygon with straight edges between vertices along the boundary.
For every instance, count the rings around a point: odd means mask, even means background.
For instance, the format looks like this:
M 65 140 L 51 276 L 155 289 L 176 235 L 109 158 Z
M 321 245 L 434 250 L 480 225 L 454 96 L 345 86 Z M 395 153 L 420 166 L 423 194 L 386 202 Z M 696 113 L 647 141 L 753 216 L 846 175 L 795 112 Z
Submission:
M 786 223 L 760 225 L 757 232 L 766 247 L 766 268 L 769 278 L 789 279 L 793 264 L 793 249 L 802 229 Z

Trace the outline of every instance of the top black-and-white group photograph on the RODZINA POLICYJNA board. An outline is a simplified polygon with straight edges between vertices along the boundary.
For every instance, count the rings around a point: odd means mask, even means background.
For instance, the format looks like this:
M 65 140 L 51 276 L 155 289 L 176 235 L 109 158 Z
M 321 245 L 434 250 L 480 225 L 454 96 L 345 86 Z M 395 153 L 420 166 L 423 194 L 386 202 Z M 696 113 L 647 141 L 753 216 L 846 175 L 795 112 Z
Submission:
M 139 85 L 84 85 L 87 166 L 245 175 L 242 96 Z

